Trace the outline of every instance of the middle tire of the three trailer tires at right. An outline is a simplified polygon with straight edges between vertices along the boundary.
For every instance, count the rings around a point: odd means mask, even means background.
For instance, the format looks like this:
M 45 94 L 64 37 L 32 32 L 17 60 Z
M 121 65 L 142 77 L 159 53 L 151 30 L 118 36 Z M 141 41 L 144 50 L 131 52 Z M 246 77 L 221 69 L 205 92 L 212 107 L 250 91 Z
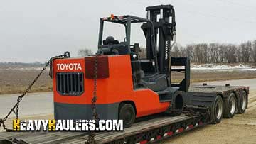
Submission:
M 235 94 L 232 92 L 227 99 L 224 99 L 224 118 L 233 118 L 237 109 L 237 100 Z

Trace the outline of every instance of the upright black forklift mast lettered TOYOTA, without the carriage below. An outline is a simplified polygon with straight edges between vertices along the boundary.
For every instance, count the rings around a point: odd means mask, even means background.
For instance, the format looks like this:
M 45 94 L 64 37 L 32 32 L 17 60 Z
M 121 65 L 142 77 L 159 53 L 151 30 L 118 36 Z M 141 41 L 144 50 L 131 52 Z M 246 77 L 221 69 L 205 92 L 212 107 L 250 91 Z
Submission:
M 175 12 L 174 7 L 171 5 L 160 5 L 160 6 L 149 6 L 146 7 L 147 19 L 153 22 L 154 24 L 154 35 L 155 42 L 158 47 L 158 66 L 159 74 L 169 74 L 171 62 L 171 41 L 174 40 L 175 31 L 176 31 L 176 21 L 175 21 Z M 149 26 L 144 23 L 142 29 L 144 32 Z M 151 60 L 154 58 L 154 50 L 151 50 L 150 40 L 146 37 L 148 45 L 146 46 L 146 57 Z M 158 39 L 158 41 L 157 41 Z M 171 64 L 171 63 L 170 63 Z

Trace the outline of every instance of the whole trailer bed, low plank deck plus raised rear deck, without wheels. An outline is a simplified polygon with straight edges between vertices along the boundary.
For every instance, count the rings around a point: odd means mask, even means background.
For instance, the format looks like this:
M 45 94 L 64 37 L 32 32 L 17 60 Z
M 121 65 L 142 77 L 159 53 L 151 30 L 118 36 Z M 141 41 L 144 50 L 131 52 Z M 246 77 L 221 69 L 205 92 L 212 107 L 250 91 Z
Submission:
M 240 94 L 242 90 L 249 92 L 249 87 L 237 86 L 212 86 L 191 85 L 186 96 L 193 97 L 193 104 L 212 101 L 213 96 L 223 96 L 235 92 Z M 196 101 L 198 97 L 198 101 Z M 193 105 L 192 104 L 192 105 Z M 212 104 L 208 103 L 209 106 Z M 191 107 L 192 113 L 184 110 L 181 116 L 149 116 L 146 120 L 138 120 L 131 128 L 125 128 L 122 132 L 98 132 L 95 140 L 100 144 L 107 143 L 155 143 L 173 135 L 189 131 L 199 126 L 210 123 L 209 107 Z M 0 143 L 85 143 L 88 139 L 87 132 L 1 132 Z

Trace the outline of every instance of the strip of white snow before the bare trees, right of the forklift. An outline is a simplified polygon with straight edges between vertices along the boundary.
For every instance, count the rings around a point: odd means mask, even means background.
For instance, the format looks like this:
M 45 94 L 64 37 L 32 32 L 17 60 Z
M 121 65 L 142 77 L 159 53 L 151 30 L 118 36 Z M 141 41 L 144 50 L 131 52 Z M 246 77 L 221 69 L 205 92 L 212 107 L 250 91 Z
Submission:
M 252 68 L 250 67 L 250 65 L 246 65 L 246 64 L 238 64 L 238 65 L 191 64 L 191 70 L 256 71 L 256 68 Z

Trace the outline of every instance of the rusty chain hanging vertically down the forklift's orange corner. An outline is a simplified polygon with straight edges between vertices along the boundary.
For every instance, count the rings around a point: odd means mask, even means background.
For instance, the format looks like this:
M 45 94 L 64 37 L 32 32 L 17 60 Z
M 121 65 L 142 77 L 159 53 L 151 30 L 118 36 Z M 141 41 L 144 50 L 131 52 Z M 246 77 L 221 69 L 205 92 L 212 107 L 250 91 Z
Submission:
M 98 67 L 98 56 L 100 55 L 99 52 L 95 55 L 95 67 L 94 67 L 94 87 L 93 87 L 93 96 L 92 96 L 92 117 L 96 121 L 99 121 L 99 115 L 96 111 L 96 101 L 97 101 L 97 67 Z M 85 142 L 85 144 L 95 144 L 95 132 L 89 131 L 88 140 Z

